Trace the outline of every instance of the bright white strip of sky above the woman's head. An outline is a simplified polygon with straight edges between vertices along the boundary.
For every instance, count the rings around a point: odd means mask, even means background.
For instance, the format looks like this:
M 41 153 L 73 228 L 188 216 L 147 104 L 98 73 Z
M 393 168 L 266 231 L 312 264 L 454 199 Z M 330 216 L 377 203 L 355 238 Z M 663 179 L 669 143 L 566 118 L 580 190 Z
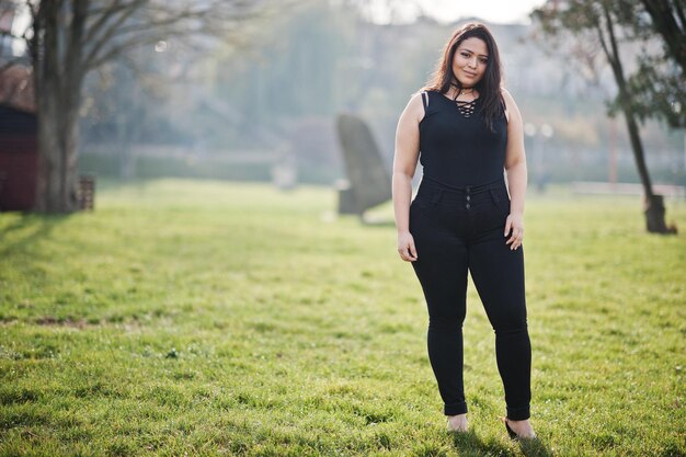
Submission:
M 388 22 L 387 0 L 371 0 L 376 22 Z M 528 13 L 545 0 L 405 0 L 401 7 L 403 20 L 411 21 L 416 15 L 413 3 L 419 4 L 426 15 L 439 22 L 454 22 L 460 18 L 477 16 L 493 23 L 528 23 Z M 401 1 L 396 4 L 402 4 Z M 404 22 L 404 21 L 403 21 Z

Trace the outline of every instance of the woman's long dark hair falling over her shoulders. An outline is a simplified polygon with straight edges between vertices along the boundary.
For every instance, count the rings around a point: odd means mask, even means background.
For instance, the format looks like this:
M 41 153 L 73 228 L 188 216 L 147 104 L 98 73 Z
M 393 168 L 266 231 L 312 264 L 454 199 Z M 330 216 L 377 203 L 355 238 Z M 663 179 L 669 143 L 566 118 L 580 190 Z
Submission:
M 453 34 L 453 37 L 443 49 L 443 57 L 436 64 L 436 69 L 422 90 L 445 94 L 450 90 L 450 85 L 462 89 L 453 72 L 453 59 L 460 43 L 472 37 L 483 41 L 489 49 L 485 72 L 475 88 L 479 91 L 479 98 L 481 99 L 483 119 L 489 129 L 493 130 L 493 121 L 503 115 L 505 102 L 501 93 L 502 71 L 500 53 L 498 52 L 495 38 L 493 38 L 491 31 L 484 24 L 469 22 L 455 31 L 455 34 Z

